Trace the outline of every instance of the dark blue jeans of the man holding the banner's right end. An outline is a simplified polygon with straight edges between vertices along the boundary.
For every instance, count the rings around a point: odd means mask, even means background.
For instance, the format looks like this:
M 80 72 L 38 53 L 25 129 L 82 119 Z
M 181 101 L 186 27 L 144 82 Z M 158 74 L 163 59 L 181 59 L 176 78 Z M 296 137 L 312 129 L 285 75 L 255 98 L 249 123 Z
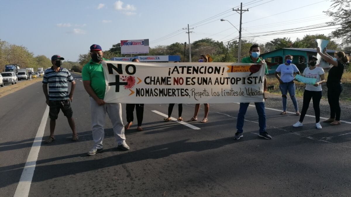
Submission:
M 240 103 L 238 120 L 237 120 L 237 132 L 243 133 L 244 119 L 250 103 Z M 266 114 L 264 112 L 264 102 L 255 103 L 256 111 L 258 114 L 258 125 L 260 127 L 260 133 L 266 131 Z

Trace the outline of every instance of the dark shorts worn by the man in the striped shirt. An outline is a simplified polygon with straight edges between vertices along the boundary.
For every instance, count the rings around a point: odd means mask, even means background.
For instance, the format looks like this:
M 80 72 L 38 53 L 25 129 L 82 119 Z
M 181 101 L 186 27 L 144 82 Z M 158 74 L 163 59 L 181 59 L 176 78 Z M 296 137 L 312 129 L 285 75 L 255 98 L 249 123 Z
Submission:
M 71 102 L 69 100 L 49 100 L 49 117 L 50 119 L 56 120 L 60 109 L 67 118 L 71 118 L 73 115 L 73 110 L 71 108 Z

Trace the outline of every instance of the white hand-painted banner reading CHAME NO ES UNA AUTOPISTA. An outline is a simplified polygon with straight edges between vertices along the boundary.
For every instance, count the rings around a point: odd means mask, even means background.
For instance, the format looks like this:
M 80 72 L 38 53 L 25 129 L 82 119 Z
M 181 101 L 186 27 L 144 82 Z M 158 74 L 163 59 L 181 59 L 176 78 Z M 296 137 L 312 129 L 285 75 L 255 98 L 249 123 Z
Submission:
M 265 65 L 102 61 L 107 103 L 263 102 Z

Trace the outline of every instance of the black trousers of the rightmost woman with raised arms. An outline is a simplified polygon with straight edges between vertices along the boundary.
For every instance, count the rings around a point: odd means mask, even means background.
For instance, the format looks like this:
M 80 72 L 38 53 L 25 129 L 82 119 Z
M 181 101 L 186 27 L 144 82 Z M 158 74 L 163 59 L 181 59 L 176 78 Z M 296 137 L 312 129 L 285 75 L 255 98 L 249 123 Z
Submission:
M 328 87 L 328 102 L 330 106 L 330 118 L 335 118 L 335 120 L 340 120 L 340 94 L 343 91 L 343 86 L 341 83 L 327 83 Z

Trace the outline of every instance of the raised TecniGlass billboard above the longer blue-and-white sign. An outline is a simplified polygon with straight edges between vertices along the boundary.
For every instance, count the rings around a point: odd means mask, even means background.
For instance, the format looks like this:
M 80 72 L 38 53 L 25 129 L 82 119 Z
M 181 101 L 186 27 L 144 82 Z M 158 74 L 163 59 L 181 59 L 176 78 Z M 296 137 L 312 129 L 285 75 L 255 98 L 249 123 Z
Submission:
M 149 39 L 121 40 L 121 54 L 149 53 Z

